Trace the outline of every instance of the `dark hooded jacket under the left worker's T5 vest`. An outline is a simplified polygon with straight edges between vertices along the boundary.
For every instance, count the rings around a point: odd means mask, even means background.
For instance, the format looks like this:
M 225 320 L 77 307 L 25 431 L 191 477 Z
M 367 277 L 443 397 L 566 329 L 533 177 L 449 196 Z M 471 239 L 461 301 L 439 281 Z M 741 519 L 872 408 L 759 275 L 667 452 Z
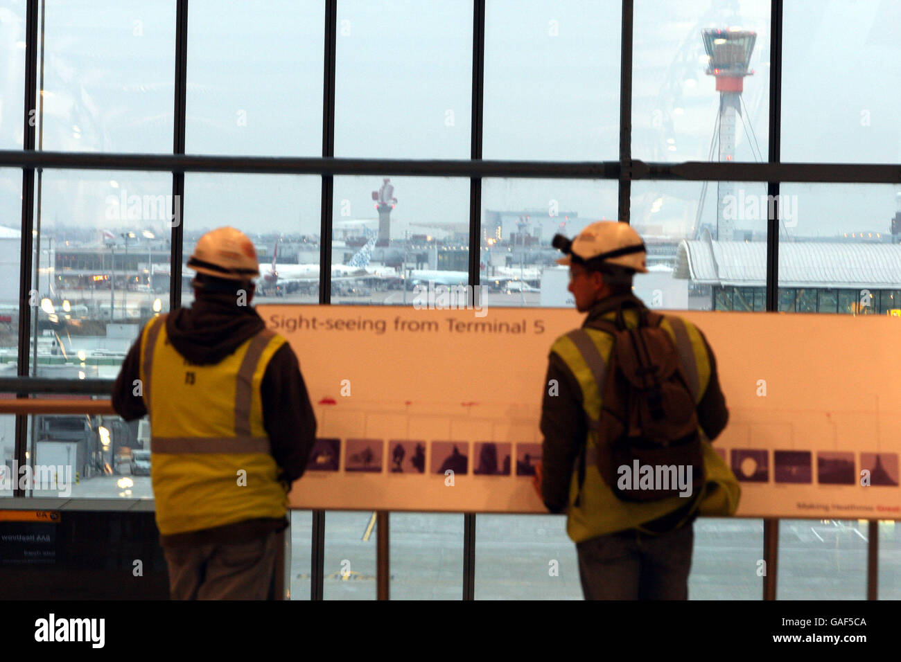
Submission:
M 236 306 L 233 295 L 223 294 L 199 295 L 190 308 L 178 308 L 166 318 L 166 333 L 172 346 L 198 365 L 218 363 L 265 326 L 253 308 Z M 143 397 L 132 394 L 134 380 L 141 377 L 140 362 L 139 337 L 125 357 L 113 389 L 114 410 L 125 421 L 147 414 Z M 287 343 L 269 360 L 260 391 L 270 452 L 281 470 L 279 480 L 290 485 L 304 474 L 316 436 L 316 419 L 297 358 Z M 242 521 L 163 536 L 161 541 L 164 547 L 241 542 L 284 529 L 286 523 L 281 519 Z

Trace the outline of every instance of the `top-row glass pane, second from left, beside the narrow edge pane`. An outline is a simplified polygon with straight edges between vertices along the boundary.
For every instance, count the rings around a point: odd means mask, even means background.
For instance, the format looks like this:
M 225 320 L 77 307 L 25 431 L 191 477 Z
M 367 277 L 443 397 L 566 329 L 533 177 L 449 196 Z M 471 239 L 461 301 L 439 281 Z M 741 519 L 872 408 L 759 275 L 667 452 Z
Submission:
M 176 4 L 47 0 L 46 6 L 39 149 L 170 152 Z

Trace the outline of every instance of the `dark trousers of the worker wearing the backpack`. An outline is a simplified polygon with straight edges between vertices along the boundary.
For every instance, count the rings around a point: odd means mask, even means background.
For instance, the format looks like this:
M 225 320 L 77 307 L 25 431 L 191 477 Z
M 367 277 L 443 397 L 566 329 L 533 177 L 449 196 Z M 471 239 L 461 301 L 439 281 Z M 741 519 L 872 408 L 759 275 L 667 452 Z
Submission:
M 651 536 L 631 529 L 576 544 L 586 600 L 687 600 L 691 523 Z

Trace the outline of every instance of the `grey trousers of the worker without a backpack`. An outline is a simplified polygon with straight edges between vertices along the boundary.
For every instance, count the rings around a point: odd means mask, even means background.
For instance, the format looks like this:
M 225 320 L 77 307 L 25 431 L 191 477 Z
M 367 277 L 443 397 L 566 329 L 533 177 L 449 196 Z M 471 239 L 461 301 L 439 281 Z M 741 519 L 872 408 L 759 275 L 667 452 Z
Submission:
M 272 600 L 278 533 L 237 544 L 163 548 L 173 600 Z

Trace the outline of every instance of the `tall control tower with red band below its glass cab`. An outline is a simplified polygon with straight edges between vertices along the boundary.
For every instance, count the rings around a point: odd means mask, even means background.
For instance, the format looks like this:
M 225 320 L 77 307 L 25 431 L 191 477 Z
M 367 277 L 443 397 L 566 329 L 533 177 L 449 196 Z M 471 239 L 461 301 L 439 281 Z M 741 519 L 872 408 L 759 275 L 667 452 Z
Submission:
M 716 91 L 720 93 L 720 112 L 717 133 L 720 143 L 720 160 L 735 158 L 735 121 L 742 114 L 742 90 L 744 77 L 752 76 L 748 70 L 751 52 L 757 41 L 757 32 L 708 29 L 702 32 L 704 49 L 710 58 L 706 74 L 716 77 Z M 735 195 L 733 182 L 719 182 L 716 186 L 716 237 L 720 241 L 732 241 L 735 220 L 725 218 L 724 206 L 728 195 Z

